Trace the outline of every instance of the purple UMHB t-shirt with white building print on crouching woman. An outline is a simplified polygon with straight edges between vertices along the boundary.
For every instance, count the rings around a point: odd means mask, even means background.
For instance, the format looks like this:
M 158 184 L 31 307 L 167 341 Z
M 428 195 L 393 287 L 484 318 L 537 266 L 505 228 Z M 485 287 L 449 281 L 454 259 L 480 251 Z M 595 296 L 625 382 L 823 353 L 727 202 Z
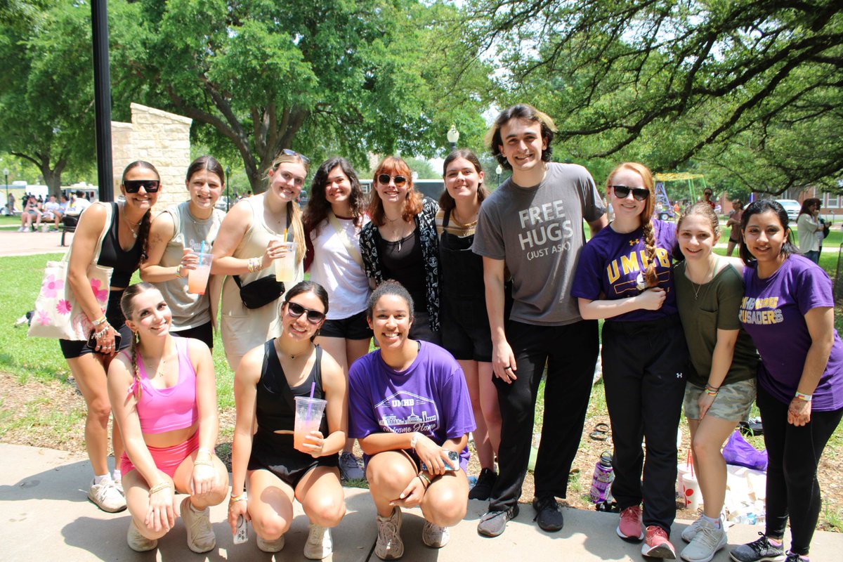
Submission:
M 422 341 L 416 360 L 402 372 L 389 367 L 380 350 L 354 361 L 348 371 L 349 437 L 418 431 L 441 446 L 475 427 L 463 370 L 438 345 Z M 459 467 L 465 470 L 467 445 L 459 456 Z

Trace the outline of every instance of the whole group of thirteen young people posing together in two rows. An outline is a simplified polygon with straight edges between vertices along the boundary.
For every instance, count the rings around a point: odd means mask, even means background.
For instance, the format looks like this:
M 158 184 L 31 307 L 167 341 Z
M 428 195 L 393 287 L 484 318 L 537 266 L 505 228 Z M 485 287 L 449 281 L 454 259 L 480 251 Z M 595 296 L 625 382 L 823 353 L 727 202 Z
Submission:
M 132 549 L 155 548 L 173 526 L 176 491 L 190 494 L 180 506 L 190 548 L 215 544 L 207 508 L 228 493 L 213 454 L 208 351 L 221 293 L 237 410 L 228 520 L 233 531 L 240 517 L 250 520 L 260 549 L 282 549 L 295 498 L 310 522 L 305 555 L 330 554 L 330 528 L 345 513 L 338 453 L 350 453 L 353 439 L 378 512 L 381 559 L 403 554 L 402 506 L 421 506 L 422 539 L 441 547 L 470 494 L 488 499 L 478 533 L 500 535 L 518 515 L 543 376 L 533 507 L 540 528 L 561 529 L 556 499 L 566 497 L 583 430 L 601 318 L 620 538 L 643 541 L 642 554 L 676 558 L 669 533 L 684 403 L 705 509 L 682 533 L 690 544 L 681 556 L 705 562 L 725 546 L 720 449 L 757 392 L 770 458 L 767 527 L 731 555 L 807 559 L 819 455 L 843 415 L 828 276 L 789 243 L 787 213 L 774 201 L 744 211 L 741 260 L 718 258 L 711 206 L 690 206 L 676 225 L 652 218 L 652 174 L 640 163 L 609 174 L 608 224 L 588 170 L 550 162 L 554 131 L 529 105 L 502 111 L 487 140 L 512 177 L 489 194 L 476 156 L 455 151 L 439 204 L 413 190 L 406 163 L 389 157 L 367 207 L 350 164 L 331 158 L 301 211 L 295 199 L 309 160 L 284 150 L 268 190 L 224 217 L 214 209 L 222 167 L 198 159 L 186 178 L 190 201 L 152 221 L 158 174 L 130 164 L 126 202 L 86 211 L 72 244 L 68 282 L 96 345 L 62 341 L 62 351 L 89 406 L 89 497 L 106 511 L 128 505 Z M 182 279 L 206 244 L 218 274 L 210 298 L 186 292 Z M 281 286 L 272 262 L 290 248 L 298 265 Z M 92 261 L 114 268 L 105 311 L 90 294 Z M 138 267 L 145 282 L 129 286 Z M 302 281 L 306 268 L 310 281 Z M 258 306 L 244 302 L 249 286 Z M 368 352 L 372 336 L 379 349 Z M 293 399 L 311 392 L 327 400 L 325 419 L 297 449 Z M 121 458 L 114 476 L 106 463 L 112 409 Z M 482 468 L 471 491 L 469 432 Z

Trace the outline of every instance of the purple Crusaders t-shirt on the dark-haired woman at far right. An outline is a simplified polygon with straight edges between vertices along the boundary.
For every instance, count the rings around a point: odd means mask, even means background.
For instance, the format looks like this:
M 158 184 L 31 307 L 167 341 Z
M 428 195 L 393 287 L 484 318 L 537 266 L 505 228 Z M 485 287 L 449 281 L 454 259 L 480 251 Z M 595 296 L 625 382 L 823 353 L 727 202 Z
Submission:
M 834 308 L 831 280 L 823 268 L 792 254 L 776 273 L 760 279 L 744 268 L 744 300 L 740 321 L 761 356 L 758 383 L 776 399 L 789 404 L 802 378 L 811 335 L 805 314 L 812 308 Z M 843 343 L 835 329 L 829 362 L 813 391 L 811 409 L 843 408 Z

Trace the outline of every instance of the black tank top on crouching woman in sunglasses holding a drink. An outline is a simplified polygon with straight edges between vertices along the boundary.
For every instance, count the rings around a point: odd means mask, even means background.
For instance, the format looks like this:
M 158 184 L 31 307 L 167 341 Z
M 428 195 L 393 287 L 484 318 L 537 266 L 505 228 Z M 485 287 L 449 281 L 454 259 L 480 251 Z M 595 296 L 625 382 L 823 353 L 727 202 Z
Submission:
M 276 456 L 281 453 L 285 457 L 313 458 L 304 452 L 293 448 L 293 427 L 296 417 L 296 396 L 309 396 L 310 385 L 316 383 L 314 398 L 325 399 L 322 388 L 322 348 L 316 345 L 316 361 L 310 369 L 310 374 L 303 383 L 291 387 L 278 360 L 275 351 L 275 339 L 264 344 L 263 367 L 260 369 L 260 380 L 255 396 L 255 417 L 258 421 L 258 431 L 252 442 L 252 451 L 259 458 L 265 455 Z M 290 433 L 276 433 L 277 430 L 289 430 Z M 322 435 L 328 436 L 328 421 L 325 415 L 319 424 Z

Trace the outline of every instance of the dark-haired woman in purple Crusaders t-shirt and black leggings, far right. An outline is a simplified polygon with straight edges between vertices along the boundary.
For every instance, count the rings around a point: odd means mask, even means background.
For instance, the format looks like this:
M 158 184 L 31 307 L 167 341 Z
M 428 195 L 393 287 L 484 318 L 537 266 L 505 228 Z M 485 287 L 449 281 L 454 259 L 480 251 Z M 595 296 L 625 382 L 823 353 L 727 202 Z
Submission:
M 741 219 L 744 301 L 740 320 L 761 356 L 758 407 L 767 447 L 766 530 L 732 551 L 738 562 L 808 559 L 821 500 L 817 464 L 843 416 L 843 345 L 831 280 L 797 254 L 787 212 L 755 201 Z

